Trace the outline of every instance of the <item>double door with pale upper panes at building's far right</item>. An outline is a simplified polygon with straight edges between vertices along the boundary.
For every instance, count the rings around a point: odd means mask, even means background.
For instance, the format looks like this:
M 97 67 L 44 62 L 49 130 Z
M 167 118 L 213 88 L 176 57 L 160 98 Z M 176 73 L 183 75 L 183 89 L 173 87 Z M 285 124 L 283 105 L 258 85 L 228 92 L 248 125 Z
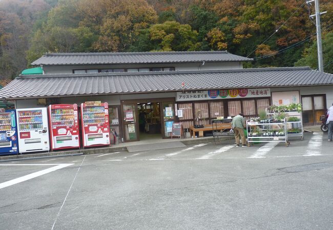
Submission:
M 326 95 L 302 96 L 303 123 L 306 125 L 320 124 L 320 116 L 325 115 Z

